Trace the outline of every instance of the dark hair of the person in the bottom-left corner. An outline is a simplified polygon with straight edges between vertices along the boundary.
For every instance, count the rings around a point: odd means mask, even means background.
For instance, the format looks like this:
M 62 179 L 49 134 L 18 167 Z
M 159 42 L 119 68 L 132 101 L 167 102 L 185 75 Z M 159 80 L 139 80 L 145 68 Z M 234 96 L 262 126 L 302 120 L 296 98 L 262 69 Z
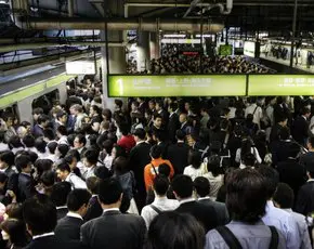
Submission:
M 14 247 L 25 247 L 28 244 L 28 236 L 24 221 L 8 219 L 3 221 L 0 228 L 10 236 L 10 243 Z

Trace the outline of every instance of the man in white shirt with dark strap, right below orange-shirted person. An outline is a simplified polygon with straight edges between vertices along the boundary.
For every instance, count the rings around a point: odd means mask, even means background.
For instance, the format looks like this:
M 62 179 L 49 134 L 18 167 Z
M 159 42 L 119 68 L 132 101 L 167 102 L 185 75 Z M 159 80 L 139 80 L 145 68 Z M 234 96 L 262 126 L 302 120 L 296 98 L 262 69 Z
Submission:
M 154 179 L 153 189 L 155 200 L 152 205 L 147 205 L 142 209 L 146 227 L 148 228 L 153 219 L 160 212 L 174 210 L 179 207 L 178 200 L 168 199 L 167 191 L 169 188 L 169 180 L 166 176 L 157 175 Z

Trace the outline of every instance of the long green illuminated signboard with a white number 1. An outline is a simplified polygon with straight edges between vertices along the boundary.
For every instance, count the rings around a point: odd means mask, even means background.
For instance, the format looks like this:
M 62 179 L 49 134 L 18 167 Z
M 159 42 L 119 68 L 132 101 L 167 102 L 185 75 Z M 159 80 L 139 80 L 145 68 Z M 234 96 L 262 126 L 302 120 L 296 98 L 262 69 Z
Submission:
M 117 96 L 244 96 L 245 75 L 175 75 L 108 77 L 108 95 Z

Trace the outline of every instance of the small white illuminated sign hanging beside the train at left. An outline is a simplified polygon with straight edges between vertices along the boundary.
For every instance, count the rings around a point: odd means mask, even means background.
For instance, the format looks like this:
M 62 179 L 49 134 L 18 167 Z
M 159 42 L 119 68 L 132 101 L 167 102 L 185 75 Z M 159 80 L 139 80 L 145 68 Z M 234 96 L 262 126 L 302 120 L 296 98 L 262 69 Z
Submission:
M 95 63 L 91 61 L 74 61 L 65 64 L 67 75 L 95 75 Z

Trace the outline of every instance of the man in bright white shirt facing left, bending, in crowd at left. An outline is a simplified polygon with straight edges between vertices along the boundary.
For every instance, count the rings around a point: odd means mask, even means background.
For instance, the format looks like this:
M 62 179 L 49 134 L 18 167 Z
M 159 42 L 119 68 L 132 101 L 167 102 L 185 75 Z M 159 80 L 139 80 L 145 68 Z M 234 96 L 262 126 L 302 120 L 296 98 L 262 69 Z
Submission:
M 62 181 L 69 182 L 73 189 L 84 188 L 87 189 L 87 184 L 83 180 L 77 176 L 75 173 L 70 172 L 68 163 L 62 162 L 56 167 L 57 178 Z

